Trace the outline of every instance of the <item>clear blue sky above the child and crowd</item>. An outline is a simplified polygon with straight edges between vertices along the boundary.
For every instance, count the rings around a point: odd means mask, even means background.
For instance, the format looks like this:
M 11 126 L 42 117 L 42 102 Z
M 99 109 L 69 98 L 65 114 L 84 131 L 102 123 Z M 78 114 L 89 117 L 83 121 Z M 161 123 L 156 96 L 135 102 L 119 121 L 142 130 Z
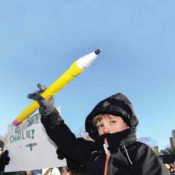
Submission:
M 77 58 L 98 59 L 55 96 L 78 132 L 92 108 L 116 92 L 132 101 L 138 137 L 169 145 L 175 129 L 174 0 L 0 0 L 0 135 Z

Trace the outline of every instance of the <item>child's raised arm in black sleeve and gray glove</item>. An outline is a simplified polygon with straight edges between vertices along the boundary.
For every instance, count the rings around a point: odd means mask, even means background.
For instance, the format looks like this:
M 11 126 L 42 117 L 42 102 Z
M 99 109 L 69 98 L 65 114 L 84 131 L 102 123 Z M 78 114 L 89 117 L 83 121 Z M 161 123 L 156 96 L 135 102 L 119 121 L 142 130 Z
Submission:
M 41 122 L 43 123 L 48 136 L 66 155 L 66 157 L 86 163 L 89 160 L 91 152 L 96 150 L 96 145 L 92 141 L 83 138 L 76 138 L 64 120 L 60 116 L 58 110 L 54 107 L 54 101 L 45 100 L 40 96 L 40 92 L 44 90 L 44 86 L 38 85 L 39 91 L 28 95 L 28 98 L 36 100 L 40 105 Z

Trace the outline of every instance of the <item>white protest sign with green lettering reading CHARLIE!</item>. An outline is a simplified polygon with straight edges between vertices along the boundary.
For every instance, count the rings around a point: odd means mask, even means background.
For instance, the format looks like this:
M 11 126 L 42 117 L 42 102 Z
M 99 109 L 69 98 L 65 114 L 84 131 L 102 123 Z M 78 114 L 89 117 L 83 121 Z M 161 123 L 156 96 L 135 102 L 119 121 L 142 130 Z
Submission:
M 20 126 L 9 125 L 7 149 L 10 163 L 5 167 L 6 172 L 66 166 L 65 159 L 58 159 L 57 147 L 47 136 L 39 114 Z

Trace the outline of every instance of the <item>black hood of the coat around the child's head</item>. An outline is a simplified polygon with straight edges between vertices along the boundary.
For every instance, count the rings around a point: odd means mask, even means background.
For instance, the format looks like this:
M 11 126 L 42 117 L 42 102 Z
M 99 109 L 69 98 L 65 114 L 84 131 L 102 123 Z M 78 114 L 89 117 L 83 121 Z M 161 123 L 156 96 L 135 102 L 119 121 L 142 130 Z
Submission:
M 136 117 L 134 108 L 129 99 L 121 94 L 114 94 L 101 102 L 90 112 L 85 121 L 86 132 L 93 139 L 98 137 L 98 132 L 92 121 L 98 114 L 112 114 L 122 117 L 122 119 L 129 125 L 130 128 L 136 128 L 138 119 Z

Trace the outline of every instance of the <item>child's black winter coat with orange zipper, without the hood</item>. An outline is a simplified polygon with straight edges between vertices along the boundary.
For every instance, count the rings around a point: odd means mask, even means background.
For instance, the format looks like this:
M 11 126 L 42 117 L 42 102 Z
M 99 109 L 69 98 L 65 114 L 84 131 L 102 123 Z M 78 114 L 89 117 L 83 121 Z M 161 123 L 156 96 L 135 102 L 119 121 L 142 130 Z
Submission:
M 49 120 L 56 115 L 59 114 L 55 110 L 41 119 L 47 134 L 68 158 L 84 164 L 89 175 L 169 175 L 152 149 L 136 141 L 134 129 L 105 134 L 95 142 L 87 141 L 76 138 L 63 121 L 53 125 Z M 108 159 L 104 138 L 108 142 Z

